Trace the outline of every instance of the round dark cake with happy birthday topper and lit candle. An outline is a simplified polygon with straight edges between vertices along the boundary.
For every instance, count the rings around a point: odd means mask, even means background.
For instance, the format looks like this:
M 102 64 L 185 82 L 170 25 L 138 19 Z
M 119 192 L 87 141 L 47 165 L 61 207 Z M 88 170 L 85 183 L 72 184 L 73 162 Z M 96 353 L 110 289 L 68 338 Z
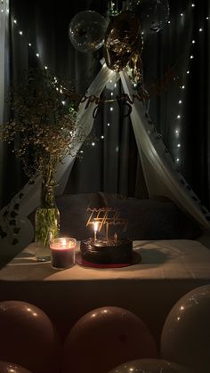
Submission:
M 118 239 L 117 232 L 109 237 L 109 225 L 123 225 L 127 221 L 119 217 L 119 212 L 110 207 L 88 208 L 90 217 L 86 225 L 93 224 L 93 238 L 80 243 L 80 252 L 86 262 L 93 264 L 129 264 L 132 261 L 133 241 Z M 101 228 L 105 228 L 105 237 L 99 237 Z

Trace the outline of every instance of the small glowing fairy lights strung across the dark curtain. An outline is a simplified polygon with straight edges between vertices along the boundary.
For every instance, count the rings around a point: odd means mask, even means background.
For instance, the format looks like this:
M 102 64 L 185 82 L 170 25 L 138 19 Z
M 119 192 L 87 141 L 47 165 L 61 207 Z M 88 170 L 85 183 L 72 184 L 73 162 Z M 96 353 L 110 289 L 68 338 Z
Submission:
M 0 0 L 0 12 L 5 12 L 7 14 L 9 14 L 9 8 L 5 7 L 4 4 L 4 0 Z M 116 11 L 117 9 L 117 5 L 115 2 L 111 2 L 111 9 L 112 11 Z M 180 17 L 181 17 L 181 21 L 182 21 L 182 24 L 184 22 L 184 18 L 185 18 L 185 14 L 187 14 L 187 12 L 189 12 L 189 10 L 191 9 L 191 11 L 194 11 L 196 9 L 196 4 L 195 3 L 190 3 L 189 4 L 189 7 L 188 9 L 186 9 L 185 11 L 182 11 L 180 12 Z M 206 21 L 210 20 L 210 15 L 206 15 Z M 23 30 L 20 28 L 19 26 L 19 21 L 16 20 L 16 19 L 12 19 L 12 22 L 13 24 L 16 26 L 16 30 L 17 32 L 19 33 L 20 37 L 24 37 L 25 36 L 25 33 L 23 32 Z M 168 20 L 168 27 L 171 27 L 173 26 L 173 21 L 172 20 Z M 198 25 L 198 32 L 199 33 L 202 33 L 202 32 L 205 32 L 206 30 L 206 25 Z M 196 40 L 196 38 L 193 38 L 191 40 L 191 48 L 190 48 L 190 56 L 189 56 L 189 59 L 190 59 L 190 63 L 192 63 L 195 59 L 195 55 L 194 55 L 194 46 L 196 45 L 196 43 L 198 42 L 198 40 Z M 35 46 L 32 45 L 32 43 L 30 41 L 27 40 L 27 43 L 28 43 L 28 48 L 30 48 L 31 50 L 33 50 L 33 52 L 35 53 L 35 56 L 37 59 L 40 59 L 41 61 L 41 53 L 36 50 Z M 49 67 L 44 64 L 43 62 L 43 66 L 44 66 L 44 69 L 49 69 Z M 184 73 L 183 75 L 184 77 L 184 80 L 187 78 L 187 77 L 190 77 L 190 69 L 187 69 L 187 71 Z M 55 80 L 55 83 L 57 82 L 57 77 L 54 77 L 54 80 Z M 178 97 L 178 100 L 177 100 L 177 114 L 176 114 L 176 118 L 175 118 L 175 128 L 174 128 L 174 137 L 175 137 L 175 140 L 176 140 L 176 145 L 175 145 L 175 150 L 174 150 L 174 160 L 175 160 L 175 163 L 177 165 L 181 165 L 181 155 L 182 155 L 182 143 L 181 143 L 181 123 L 182 123 L 182 104 L 183 104 L 183 92 L 185 91 L 186 89 L 186 85 L 187 85 L 187 81 L 186 83 L 182 84 L 179 86 L 179 97 Z M 58 88 L 58 86 L 56 87 L 57 90 L 60 90 L 60 93 L 63 93 L 62 92 L 62 86 L 60 86 L 60 88 Z M 116 80 L 110 80 L 109 81 L 109 84 L 106 86 L 107 88 L 107 91 L 109 91 L 109 99 L 108 100 L 110 102 L 110 106 L 109 106 L 109 120 L 107 122 L 107 127 L 111 126 L 111 122 L 112 122 L 112 114 L 114 113 L 114 105 L 113 105 L 113 102 L 115 102 L 115 90 L 117 88 L 117 79 Z M 65 105 L 65 101 L 62 100 L 61 101 L 63 105 Z M 101 140 L 104 140 L 105 138 L 105 135 L 102 134 L 101 135 Z M 94 147 L 95 146 L 95 142 L 92 142 L 92 146 Z M 83 150 L 80 150 L 80 152 L 82 153 Z

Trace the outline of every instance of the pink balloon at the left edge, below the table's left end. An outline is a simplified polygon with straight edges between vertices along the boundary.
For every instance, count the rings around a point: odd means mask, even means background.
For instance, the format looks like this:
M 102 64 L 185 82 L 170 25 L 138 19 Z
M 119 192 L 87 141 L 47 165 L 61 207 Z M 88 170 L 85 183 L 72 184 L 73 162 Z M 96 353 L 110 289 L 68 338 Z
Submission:
M 47 315 L 33 304 L 0 302 L 0 359 L 33 373 L 57 373 L 61 345 Z

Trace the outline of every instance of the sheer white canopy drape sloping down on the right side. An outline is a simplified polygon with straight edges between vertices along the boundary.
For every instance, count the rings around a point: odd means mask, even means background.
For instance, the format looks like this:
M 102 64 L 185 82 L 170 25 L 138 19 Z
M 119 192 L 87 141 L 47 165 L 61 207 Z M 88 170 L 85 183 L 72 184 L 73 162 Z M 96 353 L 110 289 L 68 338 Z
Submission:
M 133 90 L 131 80 L 125 71 L 120 72 L 120 77 L 124 92 L 132 98 L 133 94 L 136 95 L 136 91 Z M 142 102 L 137 99 L 133 103 L 131 120 L 149 197 L 165 195 L 173 199 L 182 210 L 209 229 L 210 224 L 206 220 L 206 216 L 209 216 L 208 211 L 200 205 L 196 194 L 189 188 L 182 174 L 177 171 Z

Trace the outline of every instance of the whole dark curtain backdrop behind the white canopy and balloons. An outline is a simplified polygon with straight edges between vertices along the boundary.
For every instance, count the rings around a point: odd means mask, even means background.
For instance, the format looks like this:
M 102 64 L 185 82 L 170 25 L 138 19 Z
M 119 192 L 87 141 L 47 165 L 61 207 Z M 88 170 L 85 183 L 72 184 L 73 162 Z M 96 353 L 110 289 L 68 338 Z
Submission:
M 210 9 L 207 0 L 194 2 L 194 8 L 191 4 L 186 0 L 170 1 L 171 23 L 158 34 L 145 36 L 142 63 L 144 84 L 154 88 L 149 114 L 178 168 L 209 207 L 210 20 L 206 17 L 210 17 Z M 28 3 L 27 0 L 11 0 L 12 80 L 24 79 L 28 67 L 47 65 L 55 76 L 76 81 L 77 92 L 85 93 L 101 69 L 102 50 L 90 54 L 77 52 L 69 41 L 68 28 L 72 17 L 86 9 L 104 15 L 107 2 L 35 0 Z M 192 44 L 193 39 L 195 44 Z M 190 59 L 190 55 L 194 58 Z M 187 74 L 188 70 L 190 74 Z M 103 95 L 109 98 L 113 93 L 115 97 L 120 92 L 121 85 L 117 83 L 113 91 L 105 90 Z M 76 160 L 65 192 L 108 191 L 147 197 L 133 129 L 117 102 L 101 106 L 93 134 L 98 140 L 94 146 L 82 148 L 83 158 Z M 10 151 L 6 168 L 4 203 L 26 181 L 20 163 Z

